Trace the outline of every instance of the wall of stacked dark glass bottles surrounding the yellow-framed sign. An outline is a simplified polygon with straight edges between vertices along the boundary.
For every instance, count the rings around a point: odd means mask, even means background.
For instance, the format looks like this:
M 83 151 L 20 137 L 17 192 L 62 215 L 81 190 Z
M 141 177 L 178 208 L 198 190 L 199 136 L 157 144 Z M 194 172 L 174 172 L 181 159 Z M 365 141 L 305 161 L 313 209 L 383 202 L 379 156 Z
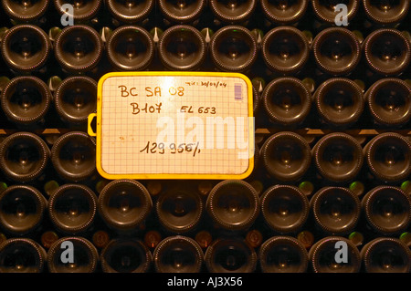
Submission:
M 2 1 L 0 272 L 411 271 L 408 1 L 65 4 Z M 248 179 L 102 179 L 97 82 L 136 70 L 247 75 Z

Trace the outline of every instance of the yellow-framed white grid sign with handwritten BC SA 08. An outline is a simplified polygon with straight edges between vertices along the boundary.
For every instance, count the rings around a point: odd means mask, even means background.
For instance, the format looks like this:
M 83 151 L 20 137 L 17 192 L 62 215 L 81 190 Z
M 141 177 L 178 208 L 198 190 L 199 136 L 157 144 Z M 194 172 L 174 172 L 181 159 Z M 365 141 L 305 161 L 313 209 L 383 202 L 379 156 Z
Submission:
M 88 131 L 107 179 L 244 179 L 254 168 L 252 85 L 238 73 L 109 73 Z

